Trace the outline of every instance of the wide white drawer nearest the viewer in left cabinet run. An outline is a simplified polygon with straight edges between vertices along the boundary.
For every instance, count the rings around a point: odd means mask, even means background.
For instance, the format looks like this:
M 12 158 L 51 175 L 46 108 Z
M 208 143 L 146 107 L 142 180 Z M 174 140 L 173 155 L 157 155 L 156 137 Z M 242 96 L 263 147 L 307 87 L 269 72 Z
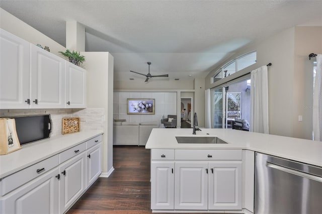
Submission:
M 1 180 L 1 195 L 5 195 L 8 192 L 16 189 L 17 187 L 27 183 L 28 181 L 44 174 L 50 169 L 58 166 L 58 154 L 40 161 L 32 166 L 29 166 L 23 170 L 20 170 L 12 175 L 4 177 Z

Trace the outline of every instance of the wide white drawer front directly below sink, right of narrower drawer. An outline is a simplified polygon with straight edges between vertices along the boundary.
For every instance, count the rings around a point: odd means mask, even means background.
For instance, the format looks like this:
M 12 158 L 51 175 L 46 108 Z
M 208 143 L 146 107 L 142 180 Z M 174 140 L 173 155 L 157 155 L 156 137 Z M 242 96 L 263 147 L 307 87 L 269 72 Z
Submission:
M 241 160 L 238 149 L 176 149 L 176 160 Z

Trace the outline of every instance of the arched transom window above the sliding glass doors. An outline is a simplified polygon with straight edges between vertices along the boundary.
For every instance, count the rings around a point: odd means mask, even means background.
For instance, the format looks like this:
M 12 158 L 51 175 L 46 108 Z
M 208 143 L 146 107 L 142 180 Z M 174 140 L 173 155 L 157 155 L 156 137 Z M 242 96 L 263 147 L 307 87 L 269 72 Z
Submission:
M 257 52 L 251 52 L 244 55 L 241 55 L 234 60 L 228 62 L 227 64 L 223 65 L 212 78 L 212 83 L 216 82 L 222 78 L 225 78 L 237 71 L 240 71 L 244 68 L 247 68 L 250 65 L 256 63 L 257 60 Z

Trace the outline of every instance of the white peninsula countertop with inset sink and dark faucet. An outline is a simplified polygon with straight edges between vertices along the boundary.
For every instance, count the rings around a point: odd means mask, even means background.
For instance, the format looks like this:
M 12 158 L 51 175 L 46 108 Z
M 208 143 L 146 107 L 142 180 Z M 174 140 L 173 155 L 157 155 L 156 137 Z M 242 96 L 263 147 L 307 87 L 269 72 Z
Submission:
M 146 149 L 245 149 L 322 167 L 322 142 L 232 129 L 153 129 Z M 209 135 L 207 135 L 209 134 Z M 176 136 L 216 136 L 227 144 L 179 144 Z

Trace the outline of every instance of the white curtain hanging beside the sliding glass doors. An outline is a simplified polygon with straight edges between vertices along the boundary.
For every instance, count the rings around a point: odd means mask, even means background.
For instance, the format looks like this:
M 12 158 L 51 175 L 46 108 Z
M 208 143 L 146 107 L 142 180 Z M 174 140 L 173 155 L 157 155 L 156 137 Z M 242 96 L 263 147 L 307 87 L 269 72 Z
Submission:
M 268 77 L 266 65 L 251 72 L 250 131 L 269 134 Z

